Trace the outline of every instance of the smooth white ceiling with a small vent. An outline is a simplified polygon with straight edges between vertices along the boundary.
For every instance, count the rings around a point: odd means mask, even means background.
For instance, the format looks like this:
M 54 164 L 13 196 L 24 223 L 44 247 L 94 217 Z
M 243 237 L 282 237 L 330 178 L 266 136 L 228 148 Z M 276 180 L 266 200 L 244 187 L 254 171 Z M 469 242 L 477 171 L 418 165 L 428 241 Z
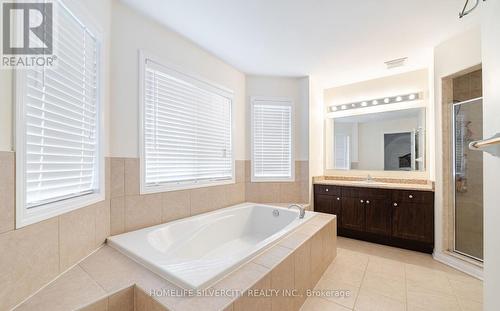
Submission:
M 122 0 L 247 74 L 323 86 L 428 67 L 432 48 L 479 24 L 464 0 Z M 403 68 L 384 61 L 408 57 Z

